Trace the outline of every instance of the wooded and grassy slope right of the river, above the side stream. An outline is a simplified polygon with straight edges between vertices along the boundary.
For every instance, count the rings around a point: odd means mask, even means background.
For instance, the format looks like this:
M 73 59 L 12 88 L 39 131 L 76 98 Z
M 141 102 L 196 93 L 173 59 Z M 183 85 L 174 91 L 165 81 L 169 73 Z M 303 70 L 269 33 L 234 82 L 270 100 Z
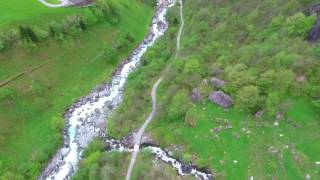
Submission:
M 161 146 L 210 168 L 218 179 L 319 178 L 320 46 L 306 40 L 317 17 L 305 13 L 314 3 L 186 1 L 177 60 L 179 15 L 173 9 L 166 36 L 129 77 L 108 132 L 121 138 L 143 124 L 151 87 L 173 63 L 148 129 Z M 199 101 L 192 101 L 195 89 Z M 215 91 L 230 95 L 234 106 L 209 101 Z

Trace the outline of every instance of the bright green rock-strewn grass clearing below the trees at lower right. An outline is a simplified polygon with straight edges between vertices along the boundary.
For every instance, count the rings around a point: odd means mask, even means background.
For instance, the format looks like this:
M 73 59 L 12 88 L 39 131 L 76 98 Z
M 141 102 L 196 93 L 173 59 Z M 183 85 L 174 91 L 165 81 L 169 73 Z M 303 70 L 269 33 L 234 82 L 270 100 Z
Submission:
M 195 128 L 157 119 L 149 130 L 166 145 L 183 145 L 185 152 L 198 157 L 195 163 L 218 172 L 218 179 L 303 179 L 307 174 L 318 178 L 319 115 L 304 98 L 289 101 L 288 117 L 279 126 L 271 118 L 255 119 L 207 102 L 195 107 L 202 115 Z M 213 132 L 229 123 L 231 129 Z

